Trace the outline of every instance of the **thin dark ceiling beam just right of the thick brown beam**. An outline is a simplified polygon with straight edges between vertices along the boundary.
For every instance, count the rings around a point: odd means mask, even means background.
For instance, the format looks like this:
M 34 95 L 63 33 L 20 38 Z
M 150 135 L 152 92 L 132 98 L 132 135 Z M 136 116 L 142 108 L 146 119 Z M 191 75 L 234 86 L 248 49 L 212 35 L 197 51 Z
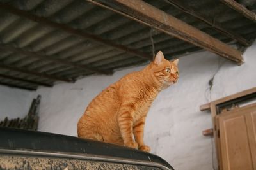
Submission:
M 236 32 L 233 32 L 223 27 L 223 25 L 221 25 L 216 20 L 209 19 L 204 15 L 202 15 L 200 12 L 193 10 L 186 4 L 182 3 L 182 1 L 178 1 L 178 0 L 164 0 L 164 1 L 166 1 L 166 3 L 172 4 L 172 6 L 175 6 L 179 10 L 182 10 L 185 13 L 188 13 L 189 15 L 197 18 L 198 20 L 204 22 L 205 24 L 210 25 L 212 28 L 216 29 L 217 31 L 220 31 L 225 36 L 236 40 L 237 42 L 241 43 L 244 46 L 250 46 L 252 44 L 250 41 L 246 40 Z

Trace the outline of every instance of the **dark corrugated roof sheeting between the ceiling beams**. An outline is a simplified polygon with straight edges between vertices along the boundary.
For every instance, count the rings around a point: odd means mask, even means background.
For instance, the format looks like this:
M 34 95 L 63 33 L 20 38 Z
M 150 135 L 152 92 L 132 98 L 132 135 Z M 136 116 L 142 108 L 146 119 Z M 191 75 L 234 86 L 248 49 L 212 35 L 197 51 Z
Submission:
M 145 2 L 235 48 L 246 46 L 248 43 L 250 45 L 256 36 L 255 22 L 221 1 L 179 1 L 180 4 L 186 5 L 181 6 L 183 9 L 200 12 L 200 17 L 207 18 L 208 24 L 198 19 L 195 13 L 191 15 L 166 3 L 166 0 Z M 238 2 L 250 11 L 256 10 L 256 3 L 253 1 Z M 100 71 L 107 70 L 110 73 L 152 59 L 150 27 L 88 1 L 0 0 L 0 3 L 4 7 L 8 6 L 0 10 L 1 45 L 19 48 L 24 52 L 40 53 L 56 61 L 64 60 Z M 40 20 L 37 20 L 38 18 Z M 104 41 L 92 41 L 75 32 Z M 162 50 L 168 59 L 202 50 L 161 31 L 153 30 L 152 38 L 155 50 Z M 137 57 L 138 55 L 144 57 Z M 0 77 L 0 83 L 4 85 L 36 89 L 38 85 L 21 80 L 47 84 L 53 84 L 55 81 L 72 82 L 77 78 L 95 74 L 95 70 L 77 69 L 52 60 L 28 56 L 28 53 L 2 48 L 0 74 L 20 78 L 11 80 Z

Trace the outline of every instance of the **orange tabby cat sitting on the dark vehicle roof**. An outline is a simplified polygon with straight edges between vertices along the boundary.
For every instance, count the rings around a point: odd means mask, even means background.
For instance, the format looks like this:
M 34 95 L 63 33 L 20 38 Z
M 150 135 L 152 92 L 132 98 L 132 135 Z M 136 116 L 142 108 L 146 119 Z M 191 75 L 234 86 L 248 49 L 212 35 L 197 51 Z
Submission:
M 157 94 L 179 78 L 178 62 L 164 59 L 160 51 L 143 70 L 109 85 L 80 118 L 78 136 L 149 152 L 143 141 L 145 118 Z

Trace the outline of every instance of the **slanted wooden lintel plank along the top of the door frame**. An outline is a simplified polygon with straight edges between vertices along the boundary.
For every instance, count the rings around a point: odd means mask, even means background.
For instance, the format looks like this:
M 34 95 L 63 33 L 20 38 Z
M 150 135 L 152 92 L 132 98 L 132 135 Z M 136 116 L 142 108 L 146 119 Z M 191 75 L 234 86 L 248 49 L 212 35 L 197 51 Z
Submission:
M 221 99 L 218 99 L 218 100 L 215 100 L 215 101 L 212 101 L 211 103 L 214 103 L 215 105 L 216 104 L 220 104 L 220 103 L 223 103 L 225 101 L 230 101 L 232 99 L 236 99 L 238 97 L 243 97 L 243 96 L 247 96 L 249 94 L 253 94 L 256 92 L 256 87 L 253 87 L 252 89 L 248 89 L 248 90 L 244 90 L 242 92 L 239 92 L 239 93 L 236 93 L 236 94 L 232 94 L 230 96 L 227 96 L 227 97 L 223 97 Z M 205 111 L 205 110 L 209 110 L 211 108 L 211 103 L 206 103 L 206 104 L 202 104 L 199 108 L 200 108 L 200 111 Z

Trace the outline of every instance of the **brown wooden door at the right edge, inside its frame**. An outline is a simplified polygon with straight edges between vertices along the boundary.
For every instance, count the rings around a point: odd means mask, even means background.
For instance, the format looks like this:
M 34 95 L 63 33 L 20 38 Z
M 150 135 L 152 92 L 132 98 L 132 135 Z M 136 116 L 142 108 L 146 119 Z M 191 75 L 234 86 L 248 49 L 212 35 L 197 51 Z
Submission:
M 256 104 L 218 115 L 223 170 L 256 170 Z

